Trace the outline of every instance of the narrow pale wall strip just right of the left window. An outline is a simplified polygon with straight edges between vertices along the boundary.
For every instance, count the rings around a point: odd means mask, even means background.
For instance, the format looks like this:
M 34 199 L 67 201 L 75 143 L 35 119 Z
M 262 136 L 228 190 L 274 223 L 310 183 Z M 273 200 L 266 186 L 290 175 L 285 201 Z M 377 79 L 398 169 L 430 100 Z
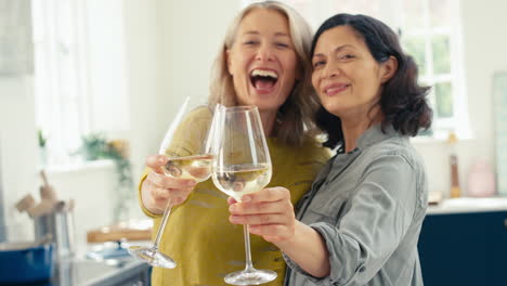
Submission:
M 140 173 L 144 157 L 156 152 L 161 132 L 157 118 L 159 98 L 159 34 L 157 1 L 123 1 L 126 76 L 131 158 L 134 173 Z

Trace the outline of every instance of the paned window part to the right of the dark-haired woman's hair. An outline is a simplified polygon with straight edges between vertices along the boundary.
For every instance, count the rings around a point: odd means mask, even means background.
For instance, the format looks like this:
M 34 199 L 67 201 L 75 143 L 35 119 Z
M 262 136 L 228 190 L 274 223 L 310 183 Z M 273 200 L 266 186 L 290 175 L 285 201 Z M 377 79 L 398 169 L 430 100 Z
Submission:
M 468 135 L 464 92 L 459 1 L 402 1 L 401 41 L 419 66 L 422 83 L 431 86 L 432 130 L 438 138 L 450 131 Z

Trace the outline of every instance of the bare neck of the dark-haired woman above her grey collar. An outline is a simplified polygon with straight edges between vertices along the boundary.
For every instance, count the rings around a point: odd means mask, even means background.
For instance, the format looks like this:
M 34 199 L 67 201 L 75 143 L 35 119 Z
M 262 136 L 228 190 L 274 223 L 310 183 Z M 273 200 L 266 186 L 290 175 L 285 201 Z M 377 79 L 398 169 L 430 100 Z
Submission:
M 341 118 L 341 130 L 343 132 L 344 152 L 351 152 L 358 147 L 358 140 L 375 123 L 381 122 L 382 115 L 379 107 L 374 107 L 364 117 L 347 119 Z

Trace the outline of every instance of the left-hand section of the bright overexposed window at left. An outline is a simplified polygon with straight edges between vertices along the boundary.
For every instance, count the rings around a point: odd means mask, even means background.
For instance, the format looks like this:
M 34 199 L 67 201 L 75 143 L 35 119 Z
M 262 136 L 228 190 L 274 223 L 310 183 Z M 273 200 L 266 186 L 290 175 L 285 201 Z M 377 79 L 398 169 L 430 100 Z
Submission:
M 80 1 L 32 1 L 36 121 L 48 164 L 68 164 L 89 131 L 84 23 Z

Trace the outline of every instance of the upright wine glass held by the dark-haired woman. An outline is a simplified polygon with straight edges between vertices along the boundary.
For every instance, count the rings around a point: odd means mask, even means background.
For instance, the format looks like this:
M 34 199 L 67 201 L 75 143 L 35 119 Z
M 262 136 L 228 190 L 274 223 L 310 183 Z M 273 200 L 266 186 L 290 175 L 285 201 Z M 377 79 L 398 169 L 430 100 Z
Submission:
M 216 114 L 211 178 L 223 193 L 242 196 L 264 188 L 271 180 L 271 158 L 256 106 L 222 107 Z M 257 270 L 251 262 L 248 225 L 244 225 L 246 266 L 224 281 L 232 285 L 259 285 L 276 278 L 276 272 Z

